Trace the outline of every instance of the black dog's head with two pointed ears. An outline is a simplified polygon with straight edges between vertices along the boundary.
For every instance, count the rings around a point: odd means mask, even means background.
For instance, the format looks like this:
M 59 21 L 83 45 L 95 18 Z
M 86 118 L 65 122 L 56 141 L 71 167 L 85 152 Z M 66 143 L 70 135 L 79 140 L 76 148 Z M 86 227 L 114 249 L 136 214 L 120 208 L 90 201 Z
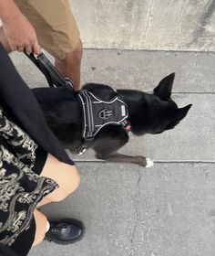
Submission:
M 174 77 L 172 73 L 161 80 L 153 94 L 132 91 L 133 97 L 138 100 L 136 112 L 129 116 L 133 133 L 163 133 L 173 129 L 189 112 L 191 104 L 178 108 L 170 98 Z

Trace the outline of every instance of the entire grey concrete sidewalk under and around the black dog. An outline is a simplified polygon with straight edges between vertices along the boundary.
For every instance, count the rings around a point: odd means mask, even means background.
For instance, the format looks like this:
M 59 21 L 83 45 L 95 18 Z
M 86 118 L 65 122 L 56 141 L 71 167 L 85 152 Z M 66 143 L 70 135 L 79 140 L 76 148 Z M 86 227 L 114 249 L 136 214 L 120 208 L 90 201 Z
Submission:
M 46 80 L 22 54 L 12 55 L 31 87 Z M 43 208 L 53 219 L 77 218 L 86 235 L 77 244 L 46 241 L 30 256 L 213 256 L 215 254 L 215 54 L 85 50 L 82 83 L 152 91 L 176 72 L 173 99 L 193 103 L 172 131 L 134 138 L 122 150 L 155 160 L 150 169 L 104 164 L 92 152 L 72 155 L 82 177 L 71 197 Z

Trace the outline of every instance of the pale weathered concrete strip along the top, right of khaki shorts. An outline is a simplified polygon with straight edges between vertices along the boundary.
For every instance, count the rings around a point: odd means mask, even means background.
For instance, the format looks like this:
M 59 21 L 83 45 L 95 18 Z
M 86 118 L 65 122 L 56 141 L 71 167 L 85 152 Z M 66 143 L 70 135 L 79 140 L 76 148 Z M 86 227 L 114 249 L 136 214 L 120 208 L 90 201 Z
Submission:
M 70 0 L 86 48 L 215 50 L 213 0 Z

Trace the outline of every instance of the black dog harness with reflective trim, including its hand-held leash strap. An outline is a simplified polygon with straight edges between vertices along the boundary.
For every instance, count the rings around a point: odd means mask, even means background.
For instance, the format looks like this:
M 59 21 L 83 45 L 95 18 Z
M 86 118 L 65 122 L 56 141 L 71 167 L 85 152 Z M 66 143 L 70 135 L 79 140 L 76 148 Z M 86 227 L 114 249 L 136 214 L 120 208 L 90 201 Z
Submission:
M 27 54 L 26 52 L 25 54 L 44 73 L 50 87 L 68 86 L 73 88 L 73 82 L 64 79 L 43 53 L 37 56 L 37 58 L 34 54 Z M 109 101 L 103 101 L 92 92 L 81 90 L 77 93 L 77 97 L 82 109 L 82 137 L 85 139 L 85 143 L 75 151 L 78 155 L 86 151 L 87 144 L 108 124 L 121 125 L 126 132 L 130 131 L 128 106 L 118 96 Z

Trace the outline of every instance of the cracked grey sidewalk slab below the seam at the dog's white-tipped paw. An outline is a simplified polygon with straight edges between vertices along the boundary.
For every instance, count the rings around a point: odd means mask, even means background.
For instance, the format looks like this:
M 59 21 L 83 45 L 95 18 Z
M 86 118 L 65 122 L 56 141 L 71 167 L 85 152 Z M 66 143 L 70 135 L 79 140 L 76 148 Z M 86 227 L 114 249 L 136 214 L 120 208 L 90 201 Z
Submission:
M 83 240 L 44 241 L 30 256 L 212 256 L 215 253 L 214 165 L 78 163 L 81 186 L 44 208 L 52 219 L 86 225 Z

